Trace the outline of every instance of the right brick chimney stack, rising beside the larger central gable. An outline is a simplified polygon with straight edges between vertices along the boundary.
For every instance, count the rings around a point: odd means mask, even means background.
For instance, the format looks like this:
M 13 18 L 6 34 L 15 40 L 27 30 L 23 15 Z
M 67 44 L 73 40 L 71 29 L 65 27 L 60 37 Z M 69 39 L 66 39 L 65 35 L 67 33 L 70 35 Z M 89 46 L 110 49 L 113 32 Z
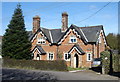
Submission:
M 68 29 L 68 14 L 66 12 L 62 13 L 62 32 Z

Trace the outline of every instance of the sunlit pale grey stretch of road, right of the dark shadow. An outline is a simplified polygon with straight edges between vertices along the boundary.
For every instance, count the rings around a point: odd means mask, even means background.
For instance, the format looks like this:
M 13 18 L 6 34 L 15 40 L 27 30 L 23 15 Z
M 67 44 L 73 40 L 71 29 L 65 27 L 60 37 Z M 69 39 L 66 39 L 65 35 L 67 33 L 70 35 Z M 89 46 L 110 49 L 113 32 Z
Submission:
M 58 80 L 118 80 L 118 77 L 98 74 L 91 70 L 79 71 L 74 73 L 56 71 L 44 71 L 44 72 L 55 75 Z

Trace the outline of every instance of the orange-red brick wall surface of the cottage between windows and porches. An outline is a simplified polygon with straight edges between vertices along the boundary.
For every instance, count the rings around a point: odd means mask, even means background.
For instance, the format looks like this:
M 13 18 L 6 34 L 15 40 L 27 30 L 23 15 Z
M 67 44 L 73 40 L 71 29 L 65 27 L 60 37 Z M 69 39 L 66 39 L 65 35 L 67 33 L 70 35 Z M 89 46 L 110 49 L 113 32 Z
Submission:
M 68 36 L 64 39 L 64 41 L 62 41 L 61 45 L 58 47 L 58 50 L 62 53 L 63 55 L 63 58 L 64 59 L 64 53 L 67 53 L 74 45 L 74 43 L 69 43 L 69 38 L 71 35 L 76 35 L 74 34 L 73 31 L 71 31 Z M 37 38 L 41 37 L 42 35 L 40 33 L 38 33 L 37 37 L 34 39 L 34 41 L 32 42 L 32 49 L 36 46 L 36 43 L 37 43 Z M 77 36 L 76 36 L 77 37 Z M 102 43 L 100 44 L 99 46 L 99 53 L 101 51 L 104 51 L 105 49 L 105 46 L 104 46 L 104 43 L 103 43 L 103 38 L 102 38 Z M 77 43 L 78 45 L 83 49 L 84 52 L 91 52 L 93 53 L 94 52 L 94 57 L 98 57 L 97 55 L 98 54 L 98 45 L 91 45 L 91 44 L 88 44 L 88 45 L 85 45 L 84 42 L 79 39 L 77 37 Z M 39 44 L 40 45 L 40 44 Z M 49 45 L 49 42 L 46 40 L 46 44 L 43 44 L 41 45 L 41 47 L 47 52 L 53 52 L 54 53 L 54 60 L 57 59 L 57 46 L 53 45 L 53 46 L 50 46 Z M 94 51 L 93 51 L 94 50 Z M 47 60 L 47 54 L 45 55 L 41 55 L 41 59 L 42 60 Z M 67 65 L 70 66 L 70 61 L 67 61 Z M 91 66 L 91 62 L 90 61 L 87 61 L 87 57 L 86 57 L 86 54 L 82 55 L 82 67 L 90 67 Z

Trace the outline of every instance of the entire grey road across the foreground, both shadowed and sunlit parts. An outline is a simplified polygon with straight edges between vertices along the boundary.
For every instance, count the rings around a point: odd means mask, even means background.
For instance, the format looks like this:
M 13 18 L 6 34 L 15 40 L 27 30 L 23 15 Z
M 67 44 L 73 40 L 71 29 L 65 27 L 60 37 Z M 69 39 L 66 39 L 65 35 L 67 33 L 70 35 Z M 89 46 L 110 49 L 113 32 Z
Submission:
M 14 74 L 15 73 L 15 74 Z M 9 74 L 9 77 L 6 77 Z M 81 71 L 76 73 L 58 72 L 58 71 L 40 71 L 40 70 L 20 70 L 20 69 L 3 69 L 3 79 L 15 79 L 15 75 L 19 75 L 19 79 L 56 79 L 57 80 L 118 80 L 117 77 L 109 75 L 96 74 L 93 71 Z M 21 77 L 21 76 L 24 76 Z M 51 77 L 52 76 L 52 77 Z M 29 77 L 29 78 L 28 78 Z

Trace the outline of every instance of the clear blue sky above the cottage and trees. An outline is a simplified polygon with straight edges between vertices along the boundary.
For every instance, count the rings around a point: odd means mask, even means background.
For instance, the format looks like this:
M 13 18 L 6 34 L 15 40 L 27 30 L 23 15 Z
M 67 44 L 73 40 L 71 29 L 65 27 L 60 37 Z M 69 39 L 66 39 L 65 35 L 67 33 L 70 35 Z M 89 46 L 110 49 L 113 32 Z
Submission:
M 61 14 L 68 13 L 68 26 L 79 27 L 103 25 L 105 34 L 118 33 L 118 2 L 20 2 L 25 28 L 32 30 L 33 17 L 39 15 L 40 25 L 48 29 L 61 28 Z M 2 2 L 2 25 L 0 35 L 5 33 L 18 2 Z M 103 8 L 102 10 L 100 10 Z M 100 10 L 98 13 L 94 14 Z M 93 15 L 94 14 L 94 15 Z M 89 17 L 93 15 L 92 17 Z M 88 18 L 89 17 L 89 18 Z M 84 20 L 88 18 L 87 20 Z M 84 21 L 81 21 L 84 20 Z

